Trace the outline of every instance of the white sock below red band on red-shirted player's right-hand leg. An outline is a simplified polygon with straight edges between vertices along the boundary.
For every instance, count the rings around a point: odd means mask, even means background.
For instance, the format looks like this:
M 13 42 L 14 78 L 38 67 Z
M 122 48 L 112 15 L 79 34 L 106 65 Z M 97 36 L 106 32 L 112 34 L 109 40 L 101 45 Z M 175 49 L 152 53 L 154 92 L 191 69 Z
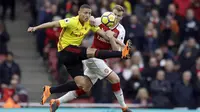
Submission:
M 119 102 L 119 104 L 121 105 L 121 107 L 126 107 L 126 103 L 124 101 L 124 94 L 122 89 L 120 89 L 119 91 L 114 92 L 115 97 L 117 98 L 117 101 Z

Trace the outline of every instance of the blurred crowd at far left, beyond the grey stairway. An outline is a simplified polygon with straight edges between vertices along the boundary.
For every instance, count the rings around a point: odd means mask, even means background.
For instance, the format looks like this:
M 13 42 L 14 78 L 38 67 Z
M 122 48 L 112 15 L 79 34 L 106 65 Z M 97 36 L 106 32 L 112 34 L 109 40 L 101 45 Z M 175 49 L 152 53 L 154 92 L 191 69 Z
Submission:
M 27 90 L 21 85 L 21 70 L 14 60 L 14 54 L 8 48 L 10 35 L 4 20 L 7 9 L 11 8 L 10 19 L 14 20 L 15 0 L 0 1 L 0 102 L 6 102 L 5 108 L 19 108 L 18 102 L 27 102 Z

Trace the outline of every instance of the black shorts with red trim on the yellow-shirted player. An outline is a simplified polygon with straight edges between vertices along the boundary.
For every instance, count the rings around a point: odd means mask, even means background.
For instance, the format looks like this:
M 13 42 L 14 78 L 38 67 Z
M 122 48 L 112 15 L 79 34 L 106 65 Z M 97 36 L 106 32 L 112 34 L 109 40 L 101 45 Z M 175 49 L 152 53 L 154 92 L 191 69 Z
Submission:
M 83 76 L 82 60 L 87 59 L 87 48 L 77 46 L 67 46 L 59 52 L 59 59 L 67 68 L 68 73 L 75 78 L 76 76 Z

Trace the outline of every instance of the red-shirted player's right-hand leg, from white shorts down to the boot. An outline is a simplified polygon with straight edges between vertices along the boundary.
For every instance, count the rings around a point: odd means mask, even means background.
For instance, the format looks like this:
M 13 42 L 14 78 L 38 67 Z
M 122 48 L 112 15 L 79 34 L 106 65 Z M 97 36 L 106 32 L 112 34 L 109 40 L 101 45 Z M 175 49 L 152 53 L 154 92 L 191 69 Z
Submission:
M 108 67 L 105 61 L 101 59 L 97 59 L 97 58 L 88 59 L 86 66 L 92 71 L 92 73 L 95 73 L 95 75 L 99 79 L 106 78 L 107 80 L 109 80 L 109 82 L 112 84 L 113 93 L 115 94 L 122 109 L 124 109 L 124 112 L 126 112 L 128 109 L 124 101 L 123 92 L 120 87 L 120 78 L 118 77 L 118 75 Z M 86 75 L 88 75 L 88 73 Z M 94 75 L 92 76 L 95 77 Z M 92 76 L 88 75 L 88 77 L 90 77 L 91 79 L 92 79 Z

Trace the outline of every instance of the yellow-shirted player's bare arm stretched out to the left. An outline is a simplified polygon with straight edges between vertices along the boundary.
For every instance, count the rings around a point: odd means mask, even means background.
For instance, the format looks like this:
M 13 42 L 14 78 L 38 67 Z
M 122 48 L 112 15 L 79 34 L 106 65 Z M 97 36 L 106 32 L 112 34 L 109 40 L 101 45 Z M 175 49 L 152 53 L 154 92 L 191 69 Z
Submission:
M 52 27 L 60 27 L 59 21 L 47 22 L 47 23 L 43 23 L 43 24 L 35 26 L 35 27 L 29 27 L 27 31 L 34 32 L 39 29 L 52 28 Z

